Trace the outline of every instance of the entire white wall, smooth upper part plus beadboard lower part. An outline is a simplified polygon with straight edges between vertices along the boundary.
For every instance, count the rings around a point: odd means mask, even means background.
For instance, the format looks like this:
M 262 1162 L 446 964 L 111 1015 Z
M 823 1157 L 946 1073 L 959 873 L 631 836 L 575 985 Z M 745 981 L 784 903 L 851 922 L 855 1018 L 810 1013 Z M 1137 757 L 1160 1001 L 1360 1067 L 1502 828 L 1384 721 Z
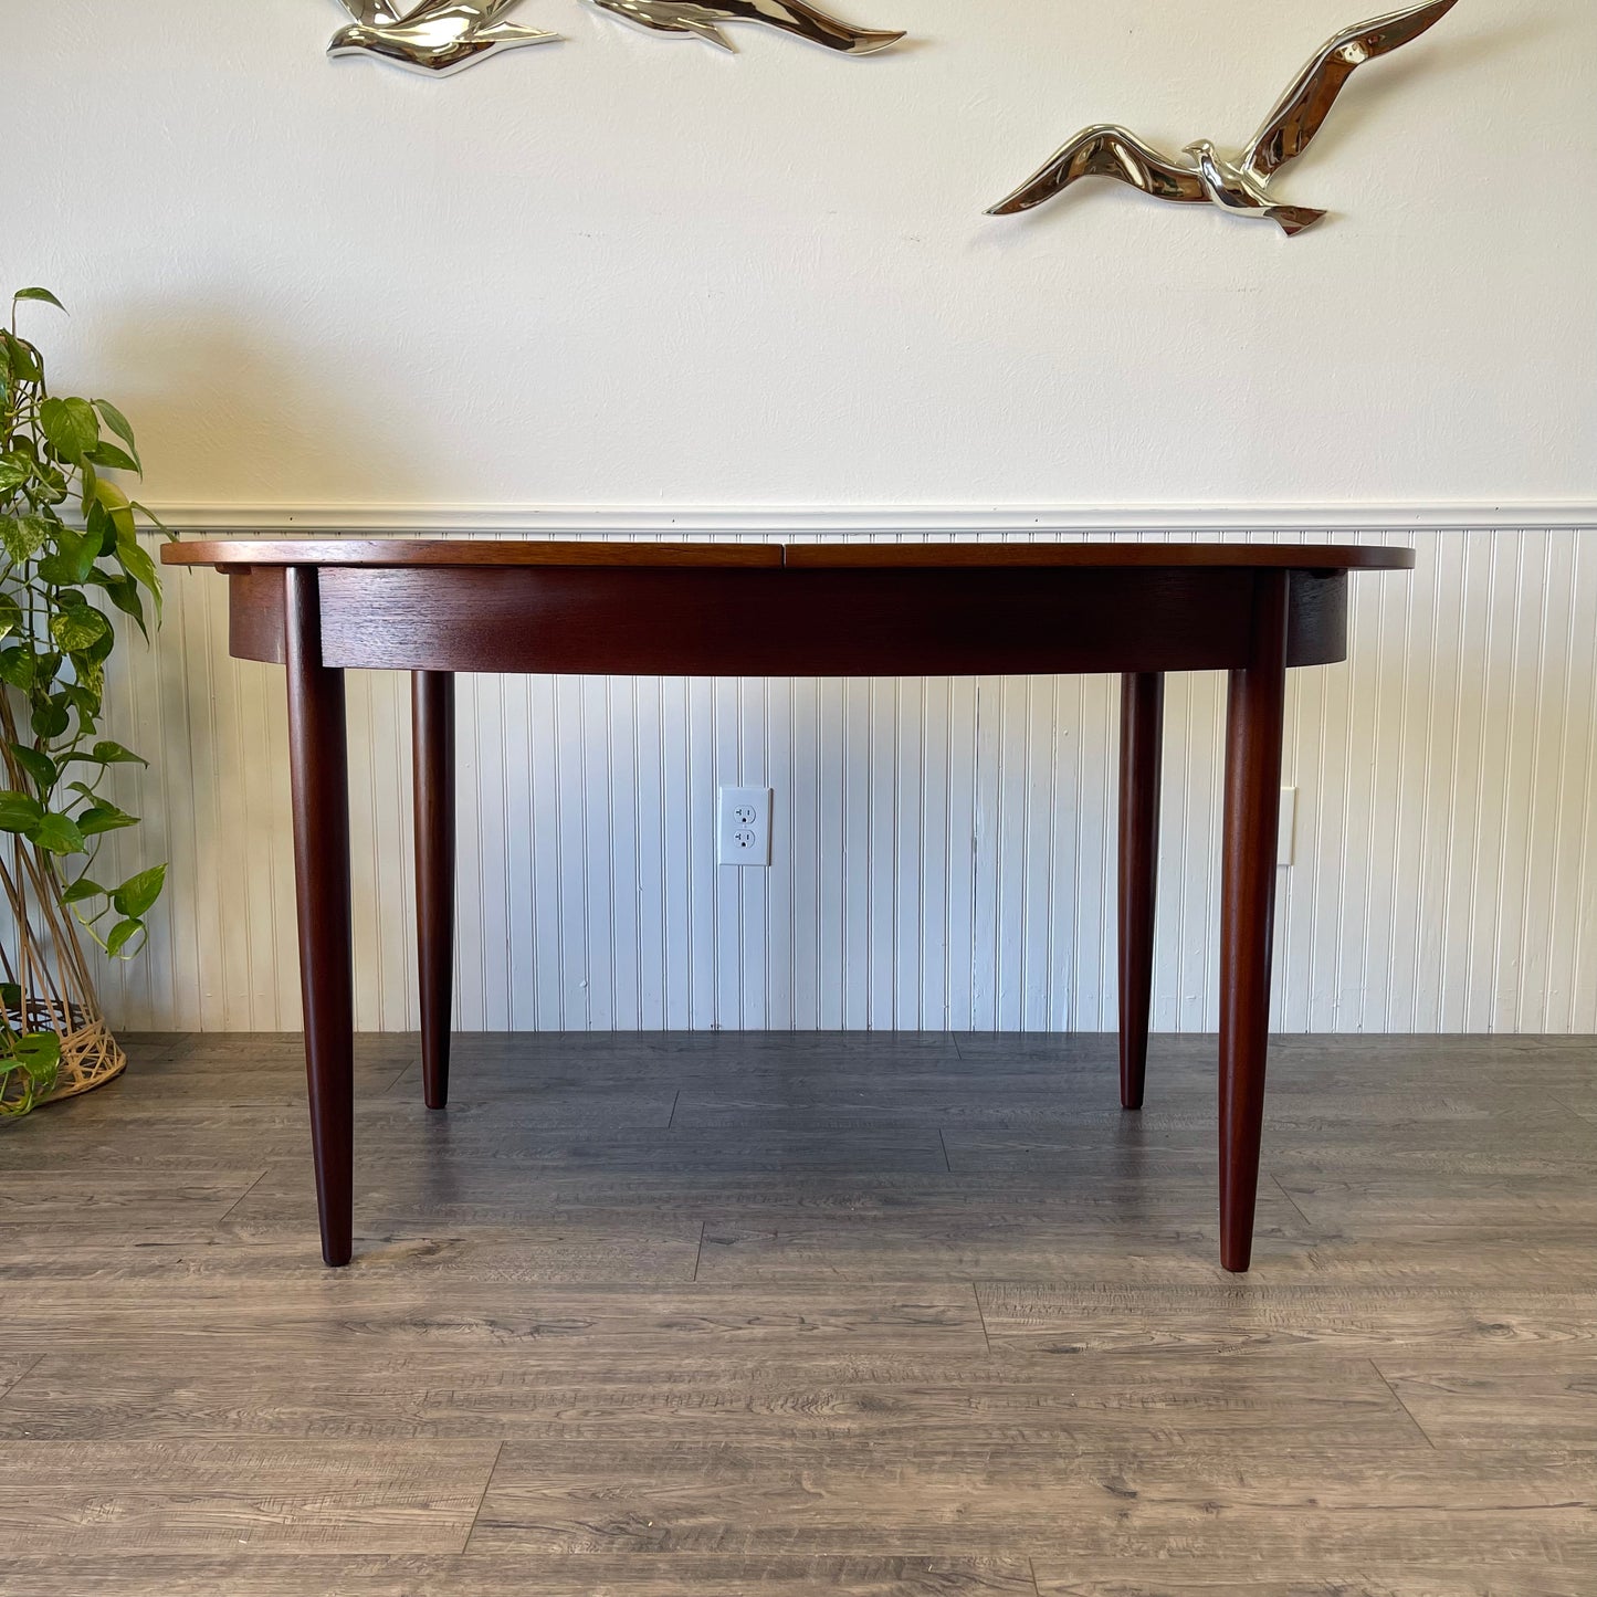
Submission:
M 1455 529 L 1295 690 L 1279 1019 L 1597 1030 L 1597 8 L 1463 0 L 1362 73 L 1290 244 L 981 212 L 1086 121 L 1241 141 L 1349 0 L 850 8 L 917 45 L 527 0 L 572 42 L 426 83 L 324 61 L 332 0 L 0 0 L 53 163 L 0 284 L 72 303 L 57 382 L 188 525 Z M 172 586 L 117 692 L 174 885 L 109 1006 L 294 1025 L 281 684 Z M 1108 684 L 468 693 L 463 1024 L 1112 1022 Z M 1172 690 L 1166 1027 L 1214 1020 L 1217 693 Z M 402 706 L 353 688 L 363 1025 L 414 1024 Z M 714 867 L 717 781 L 778 787 L 770 874 Z

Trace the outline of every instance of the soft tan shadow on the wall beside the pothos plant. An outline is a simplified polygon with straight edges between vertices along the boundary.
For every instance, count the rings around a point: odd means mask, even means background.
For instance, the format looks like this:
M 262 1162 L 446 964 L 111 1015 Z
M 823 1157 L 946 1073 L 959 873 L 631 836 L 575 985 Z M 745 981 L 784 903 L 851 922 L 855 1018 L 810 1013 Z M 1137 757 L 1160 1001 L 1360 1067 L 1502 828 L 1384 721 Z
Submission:
M 157 505 L 394 503 L 428 498 L 425 450 L 374 393 L 382 361 L 350 371 L 259 318 L 161 302 L 129 307 L 97 364 L 129 372 Z M 141 383 L 142 378 L 142 383 Z

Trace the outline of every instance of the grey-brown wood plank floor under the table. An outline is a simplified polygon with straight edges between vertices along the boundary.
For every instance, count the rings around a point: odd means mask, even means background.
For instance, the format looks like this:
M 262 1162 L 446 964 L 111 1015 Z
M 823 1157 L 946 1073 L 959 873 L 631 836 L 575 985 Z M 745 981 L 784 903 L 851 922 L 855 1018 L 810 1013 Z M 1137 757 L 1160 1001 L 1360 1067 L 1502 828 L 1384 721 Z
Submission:
M 3 1597 L 1597 1594 L 1597 1040 L 299 1038 L 0 1126 Z

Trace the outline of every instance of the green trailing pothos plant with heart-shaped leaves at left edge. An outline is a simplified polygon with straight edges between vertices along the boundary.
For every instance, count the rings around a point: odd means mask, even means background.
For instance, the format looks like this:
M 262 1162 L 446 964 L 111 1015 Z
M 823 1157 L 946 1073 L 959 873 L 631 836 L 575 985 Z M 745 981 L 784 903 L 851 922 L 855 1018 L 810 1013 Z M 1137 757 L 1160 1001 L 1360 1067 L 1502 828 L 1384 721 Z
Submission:
M 101 719 L 117 647 L 110 612 L 131 616 L 145 637 L 160 620 L 160 577 L 137 517 L 160 522 L 104 474 L 142 473 L 126 417 L 109 399 L 50 393 L 43 355 L 18 332 L 26 302 L 62 308 L 46 289 L 22 289 L 0 326 L 0 877 L 19 944 L 40 934 L 32 901 L 57 957 L 80 958 L 81 928 L 109 955 L 131 958 L 166 867 L 96 880 L 105 837 L 139 824 L 104 795 L 104 783 L 118 765 L 145 763 L 102 738 Z M 26 947 L 3 963 L 0 1108 L 24 1113 L 54 1086 L 73 1016 L 69 1000 L 24 990 Z

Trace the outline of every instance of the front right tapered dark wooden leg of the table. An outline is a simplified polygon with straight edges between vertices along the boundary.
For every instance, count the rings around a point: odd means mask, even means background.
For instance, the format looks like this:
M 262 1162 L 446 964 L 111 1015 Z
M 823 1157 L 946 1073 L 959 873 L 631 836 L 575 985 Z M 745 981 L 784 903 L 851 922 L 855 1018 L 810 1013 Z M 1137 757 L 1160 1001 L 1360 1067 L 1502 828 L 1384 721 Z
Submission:
M 1220 866 L 1220 1263 L 1247 1270 L 1258 1199 L 1286 711 L 1286 572 L 1260 572 L 1252 660 L 1231 672 Z

